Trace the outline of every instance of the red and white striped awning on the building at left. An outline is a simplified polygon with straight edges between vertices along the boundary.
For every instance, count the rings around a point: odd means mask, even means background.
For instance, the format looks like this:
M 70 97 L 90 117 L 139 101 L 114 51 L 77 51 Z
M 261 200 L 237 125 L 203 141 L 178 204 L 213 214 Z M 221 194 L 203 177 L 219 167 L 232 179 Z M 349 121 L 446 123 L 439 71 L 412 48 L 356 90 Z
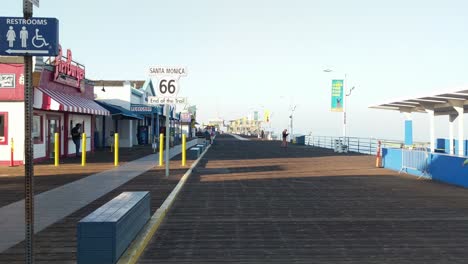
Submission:
M 34 88 L 34 108 L 90 115 L 110 115 L 108 110 L 93 100 L 41 87 Z

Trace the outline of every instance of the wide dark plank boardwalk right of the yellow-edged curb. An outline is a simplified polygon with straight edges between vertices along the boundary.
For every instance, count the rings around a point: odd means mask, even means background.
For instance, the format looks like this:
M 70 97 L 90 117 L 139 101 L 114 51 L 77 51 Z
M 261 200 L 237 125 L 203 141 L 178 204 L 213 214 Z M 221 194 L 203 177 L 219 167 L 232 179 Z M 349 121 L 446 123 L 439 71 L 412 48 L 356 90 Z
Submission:
M 468 263 L 468 190 L 218 137 L 139 263 Z

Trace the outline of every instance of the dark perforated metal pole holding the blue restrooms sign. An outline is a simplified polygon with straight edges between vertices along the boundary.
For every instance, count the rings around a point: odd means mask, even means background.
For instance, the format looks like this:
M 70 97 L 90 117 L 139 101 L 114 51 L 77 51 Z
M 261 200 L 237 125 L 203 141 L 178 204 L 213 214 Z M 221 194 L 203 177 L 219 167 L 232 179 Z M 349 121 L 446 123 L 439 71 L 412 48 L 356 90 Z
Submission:
M 32 3 L 23 0 L 25 19 L 33 15 Z M 25 263 L 34 263 L 34 149 L 32 145 L 32 56 L 24 56 L 24 209 L 25 209 Z

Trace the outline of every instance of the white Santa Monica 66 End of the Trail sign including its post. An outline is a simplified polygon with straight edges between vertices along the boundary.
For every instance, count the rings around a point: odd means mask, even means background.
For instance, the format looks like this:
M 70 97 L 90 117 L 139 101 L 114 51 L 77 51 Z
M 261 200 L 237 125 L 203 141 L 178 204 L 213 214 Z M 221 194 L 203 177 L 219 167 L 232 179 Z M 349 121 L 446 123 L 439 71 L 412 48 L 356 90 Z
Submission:
M 185 103 L 186 98 L 178 98 L 179 79 L 187 76 L 185 67 L 153 66 L 148 69 L 149 77 L 155 77 L 157 82 L 157 96 L 148 97 L 149 104 L 164 104 L 166 107 L 166 177 L 169 177 L 169 137 L 170 137 L 170 105 Z

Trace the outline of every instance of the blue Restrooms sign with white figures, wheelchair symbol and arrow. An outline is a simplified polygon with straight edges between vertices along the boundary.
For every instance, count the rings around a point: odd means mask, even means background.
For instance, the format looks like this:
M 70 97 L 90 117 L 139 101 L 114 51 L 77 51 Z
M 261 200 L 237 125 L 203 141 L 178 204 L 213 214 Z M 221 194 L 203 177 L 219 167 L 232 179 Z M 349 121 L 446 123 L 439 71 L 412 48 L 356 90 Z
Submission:
M 56 18 L 0 17 L 0 55 L 56 56 L 58 42 Z

